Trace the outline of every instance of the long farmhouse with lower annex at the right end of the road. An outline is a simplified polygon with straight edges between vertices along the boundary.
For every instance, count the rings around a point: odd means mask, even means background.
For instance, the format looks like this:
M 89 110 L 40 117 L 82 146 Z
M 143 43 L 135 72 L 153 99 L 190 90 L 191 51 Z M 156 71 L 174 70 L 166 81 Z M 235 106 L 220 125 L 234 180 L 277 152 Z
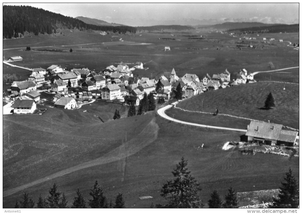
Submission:
M 248 142 L 270 145 L 297 145 L 298 132 L 282 130 L 282 125 L 251 121 L 246 136 Z

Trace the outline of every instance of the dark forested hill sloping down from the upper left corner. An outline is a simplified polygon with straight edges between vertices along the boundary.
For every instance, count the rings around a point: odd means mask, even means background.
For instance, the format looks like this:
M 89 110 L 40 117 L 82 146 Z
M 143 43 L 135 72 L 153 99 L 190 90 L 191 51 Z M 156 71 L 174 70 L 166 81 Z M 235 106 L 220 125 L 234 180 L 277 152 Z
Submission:
M 56 29 L 79 29 L 112 31 L 114 33 L 135 33 L 136 28 L 131 26 L 97 26 L 86 24 L 76 18 L 63 16 L 31 6 L 3 6 L 3 39 L 18 37 L 19 34 L 34 33 L 51 34 Z

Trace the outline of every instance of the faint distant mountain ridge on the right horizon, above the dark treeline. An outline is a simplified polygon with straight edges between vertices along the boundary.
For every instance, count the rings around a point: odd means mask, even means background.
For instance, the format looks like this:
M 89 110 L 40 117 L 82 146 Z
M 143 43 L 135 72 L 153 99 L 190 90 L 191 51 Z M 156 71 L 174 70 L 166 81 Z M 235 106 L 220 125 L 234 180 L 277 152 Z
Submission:
M 273 26 L 281 24 L 265 24 L 261 22 L 225 22 L 222 24 L 215 24 L 209 26 L 198 27 L 199 29 L 204 28 L 213 28 L 213 29 L 240 29 L 240 28 L 249 28 L 249 27 L 262 27 L 262 26 Z

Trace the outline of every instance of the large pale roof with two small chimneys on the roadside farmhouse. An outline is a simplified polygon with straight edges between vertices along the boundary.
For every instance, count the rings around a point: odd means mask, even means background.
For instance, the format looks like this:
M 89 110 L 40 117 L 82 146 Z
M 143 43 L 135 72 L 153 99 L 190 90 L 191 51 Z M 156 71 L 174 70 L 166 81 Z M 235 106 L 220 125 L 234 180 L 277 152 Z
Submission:
M 246 136 L 277 140 L 281 129 L 280 124 L 251 121 Z

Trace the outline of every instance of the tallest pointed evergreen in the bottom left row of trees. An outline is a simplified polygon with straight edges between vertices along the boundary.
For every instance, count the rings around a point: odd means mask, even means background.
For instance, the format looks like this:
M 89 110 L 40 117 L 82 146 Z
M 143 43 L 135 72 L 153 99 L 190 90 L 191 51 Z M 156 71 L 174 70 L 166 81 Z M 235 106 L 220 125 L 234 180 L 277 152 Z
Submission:
M 92 199 L 89 199 L 89 206 L 91 208 L 108 208 L 107 199 L 103 194 L 103 189 L 98 185 L 98 181 L 95 181 L 89 195 L 92 196 Z

